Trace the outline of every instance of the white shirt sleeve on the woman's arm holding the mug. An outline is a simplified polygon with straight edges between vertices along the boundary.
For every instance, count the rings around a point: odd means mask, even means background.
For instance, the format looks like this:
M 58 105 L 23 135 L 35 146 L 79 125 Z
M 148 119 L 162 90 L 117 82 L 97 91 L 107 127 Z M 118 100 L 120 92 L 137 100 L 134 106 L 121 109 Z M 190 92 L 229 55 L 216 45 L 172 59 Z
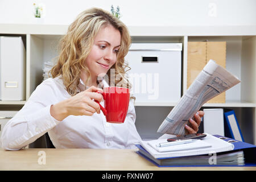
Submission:
M 50 114 L 57 102 L 52 80 L 40 84 L 21 110 L 7 122 L 2 131 L 1 146 L 5 150 L 19 150 L 34 142 L 61 121 Z

